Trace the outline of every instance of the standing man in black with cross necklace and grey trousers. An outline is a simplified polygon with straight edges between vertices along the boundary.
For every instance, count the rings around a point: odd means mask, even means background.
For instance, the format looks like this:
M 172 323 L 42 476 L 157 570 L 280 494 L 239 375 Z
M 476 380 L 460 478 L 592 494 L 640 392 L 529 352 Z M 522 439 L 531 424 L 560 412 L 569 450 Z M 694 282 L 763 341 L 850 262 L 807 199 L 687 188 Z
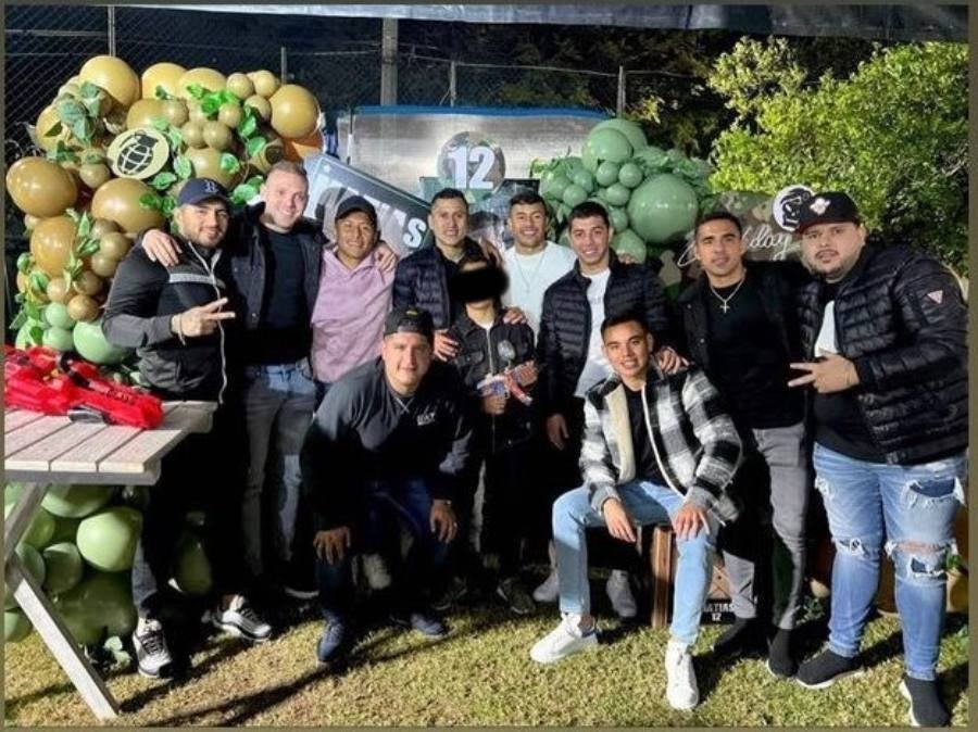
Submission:
M 795 293 L 808 278 L 798 264 L 744 262 L 741 235 L 728 212 L 701 217 L 693 245 L 703 274 L 679 296 L 688 352 L 724 397 L 747 453 L 736 491 L 744 510 L 719 542 L 737 619 L 714 652 L 763 651 L 761 622 L 769 620 L 767 666 L 788 678 L 795 671 L 790 638 L 802 600 L 808 505 L 804 400 L 788 379 L 801 355 Z M 762 526 L 774 527 L 773 547 Z M 760 608 L 769 617 L 758 618 L 762 556 L 769 557 L 774 586 L 773 606 Z

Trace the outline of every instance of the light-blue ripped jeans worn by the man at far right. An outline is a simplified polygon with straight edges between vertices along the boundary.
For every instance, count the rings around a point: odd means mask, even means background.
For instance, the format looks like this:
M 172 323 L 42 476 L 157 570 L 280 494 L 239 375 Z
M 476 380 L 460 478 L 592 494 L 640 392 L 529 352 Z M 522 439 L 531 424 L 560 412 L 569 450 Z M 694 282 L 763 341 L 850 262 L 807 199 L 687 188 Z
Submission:
M 900 466 L 816 443 L 813 462 L 836 545 L 829 648 L 847 658 L 858 654 L 885 550 L 896 578 L 906 673 L 932 680 L 944 624 L 944 560 L 956 551 L 954 516 L 965 496 L 965 453 Z

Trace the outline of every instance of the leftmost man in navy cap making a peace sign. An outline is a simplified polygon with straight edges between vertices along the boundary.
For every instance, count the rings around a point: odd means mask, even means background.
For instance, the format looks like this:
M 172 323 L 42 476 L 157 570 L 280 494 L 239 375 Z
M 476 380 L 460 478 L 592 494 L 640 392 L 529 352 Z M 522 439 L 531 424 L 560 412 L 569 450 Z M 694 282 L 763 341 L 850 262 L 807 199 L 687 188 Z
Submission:
M 133 643 L 140 673 L 151 678 L 174 669 L 162 614 L 178 527 L 195 501 L 205 508 L 205 548 L 218 597 L 211 621 L 253 642 L 272 633 L 241 594 L 246 580 L 239 571 L 237 512 L 244 476 L 235 469 L 240 418 L 228 406 L 234 400 L 228 400 L 229 333 L 224 326 L 235 314 L 222 310 L 227 303 L 227 260 L 220 248 L 228 226 L 227 193 L 213 180 L 197 178 L 187 181 L 177 203 L 178 263 L 167 269 L 134 248 L 120 264 L 102 319 L 112 343 L 137 349 L 140 374 L 154 393 L 218 403 L 211 431 L 184 440 L 166 456 L 160 481 L 150 488 L 133 563 L 139 616 Z

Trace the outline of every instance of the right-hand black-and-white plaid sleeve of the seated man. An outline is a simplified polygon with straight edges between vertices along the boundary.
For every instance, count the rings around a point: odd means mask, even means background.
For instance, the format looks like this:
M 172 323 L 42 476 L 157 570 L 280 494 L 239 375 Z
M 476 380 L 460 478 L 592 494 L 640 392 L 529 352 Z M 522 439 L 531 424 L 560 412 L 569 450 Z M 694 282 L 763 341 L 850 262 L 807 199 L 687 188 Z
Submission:
M 710 507 L 724 495 L 740 464 L 740 436 L 724 409 L 719 392 L 702 370 L 689 371 L 682 384 L 682 404 L 703 446 L 688 497 Z

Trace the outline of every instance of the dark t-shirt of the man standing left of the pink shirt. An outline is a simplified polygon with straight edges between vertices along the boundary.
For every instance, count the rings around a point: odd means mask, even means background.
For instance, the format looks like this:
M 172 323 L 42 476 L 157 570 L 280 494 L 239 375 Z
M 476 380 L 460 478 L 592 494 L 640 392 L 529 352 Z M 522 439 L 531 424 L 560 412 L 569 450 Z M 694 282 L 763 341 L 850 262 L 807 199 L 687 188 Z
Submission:
M 265 293 L 259 327 L 249 333 L 251 364 L 290 364 L 309 355 L 311 330 L 303 282 L 302 249 L 290 234 L 262 227 Z

